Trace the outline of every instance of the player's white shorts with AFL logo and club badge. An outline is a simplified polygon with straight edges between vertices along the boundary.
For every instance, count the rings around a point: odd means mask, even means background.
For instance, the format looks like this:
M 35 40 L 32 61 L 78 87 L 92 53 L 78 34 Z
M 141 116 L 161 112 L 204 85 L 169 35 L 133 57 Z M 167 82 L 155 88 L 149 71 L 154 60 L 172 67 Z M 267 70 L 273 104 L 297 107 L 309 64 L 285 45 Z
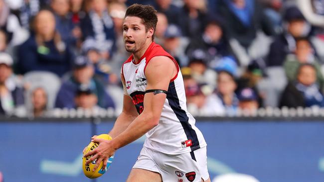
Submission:
M 133 168 L 160 173 L 163 182 L 201 182 L 209 178 L 206 147 L 179 155 L 143 147 Z

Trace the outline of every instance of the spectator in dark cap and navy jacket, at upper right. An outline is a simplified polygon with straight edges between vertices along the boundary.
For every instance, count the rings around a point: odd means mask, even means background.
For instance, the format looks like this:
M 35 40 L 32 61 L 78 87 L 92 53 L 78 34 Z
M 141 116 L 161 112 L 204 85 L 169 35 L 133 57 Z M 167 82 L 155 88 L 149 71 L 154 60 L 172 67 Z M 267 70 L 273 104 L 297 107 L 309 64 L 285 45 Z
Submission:
M 270 45 L 270 51 L 267 56 L 268 66 L 282 66 L 286 56 L 296 50 L 296 39 L 307 38 L 312 47 L 314 55 L 322 61 L 324 43 L 318 37 L 312 36 L 311 25 L 305 19 L 304 15 L 296 6 L 288 7 L 284 12 L 284 31 L 274 38 Z

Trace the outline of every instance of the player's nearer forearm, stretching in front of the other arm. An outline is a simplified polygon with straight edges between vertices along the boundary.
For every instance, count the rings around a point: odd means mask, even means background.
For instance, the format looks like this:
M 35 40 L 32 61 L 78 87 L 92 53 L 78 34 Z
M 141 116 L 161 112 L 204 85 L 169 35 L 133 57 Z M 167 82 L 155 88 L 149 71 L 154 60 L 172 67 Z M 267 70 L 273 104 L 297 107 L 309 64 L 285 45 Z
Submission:
M 154 118 L 151 114 L 142 113 L 125 131 L 112 140 L 114 148 L 117 150 L 132 143 L 154 128 L 158 123 L 159 118 Z

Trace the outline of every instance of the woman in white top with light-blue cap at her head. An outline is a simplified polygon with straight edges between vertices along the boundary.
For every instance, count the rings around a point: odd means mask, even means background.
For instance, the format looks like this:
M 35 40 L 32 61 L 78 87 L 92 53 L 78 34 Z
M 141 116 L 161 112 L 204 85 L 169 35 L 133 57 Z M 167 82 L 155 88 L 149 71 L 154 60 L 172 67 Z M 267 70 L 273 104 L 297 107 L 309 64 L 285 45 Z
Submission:
M 208 116 L 233 116 L 237 112 L 236 90 L 237 65 L 233 60 L 221 60 L 216 66 L 217 88 L 206 98 L 204 113 Z

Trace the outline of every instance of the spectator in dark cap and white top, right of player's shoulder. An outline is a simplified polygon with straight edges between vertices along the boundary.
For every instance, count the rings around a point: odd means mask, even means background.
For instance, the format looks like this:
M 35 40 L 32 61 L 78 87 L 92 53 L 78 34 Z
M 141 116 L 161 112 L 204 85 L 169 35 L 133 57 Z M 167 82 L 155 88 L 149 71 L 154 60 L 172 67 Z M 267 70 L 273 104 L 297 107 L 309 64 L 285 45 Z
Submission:
M 192 70 L 192 77 L 199 84 L 208 84 L 215 87 L 216 73 L 208 68 L 206 52 L 202 49 L 193 50 L 189 55 L 188 67 Z

